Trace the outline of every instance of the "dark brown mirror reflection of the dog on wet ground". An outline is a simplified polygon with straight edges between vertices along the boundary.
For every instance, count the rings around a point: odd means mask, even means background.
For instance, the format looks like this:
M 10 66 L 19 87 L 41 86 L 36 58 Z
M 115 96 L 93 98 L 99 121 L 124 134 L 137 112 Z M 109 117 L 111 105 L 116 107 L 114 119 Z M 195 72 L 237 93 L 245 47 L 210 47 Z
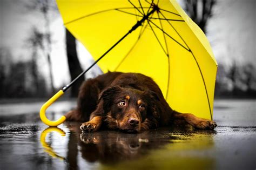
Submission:
M 149 140 L 148 133 L 125 134 L 115 131 L 82 133 L 80 134 L 82 157 L 90 162 L 104 163 L 136 159 L 145 155 L 149 149 L 160 146 L 156 141 Z

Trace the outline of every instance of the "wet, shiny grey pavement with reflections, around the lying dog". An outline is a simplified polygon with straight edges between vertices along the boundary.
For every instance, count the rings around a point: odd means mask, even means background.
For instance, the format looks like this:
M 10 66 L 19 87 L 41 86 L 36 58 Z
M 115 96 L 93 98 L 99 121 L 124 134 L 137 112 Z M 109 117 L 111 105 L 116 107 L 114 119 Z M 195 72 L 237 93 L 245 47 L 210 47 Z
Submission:
M 215 100 L 215 131 L 158 128 L 81 133 L 39 119 L 41 102 L 0 104 L 0 169 L 255 169 L 256 100 Z M 56 120 L 75 106 L 59 101 Z

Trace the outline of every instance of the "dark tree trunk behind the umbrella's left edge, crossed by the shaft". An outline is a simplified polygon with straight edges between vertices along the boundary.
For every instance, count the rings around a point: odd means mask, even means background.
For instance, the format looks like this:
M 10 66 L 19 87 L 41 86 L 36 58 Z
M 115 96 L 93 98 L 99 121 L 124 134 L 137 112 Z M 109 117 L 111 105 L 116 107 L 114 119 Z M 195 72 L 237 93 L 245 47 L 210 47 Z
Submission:
M 82 68 L 80 66 L 77 51 L 76 51 L 76 38 L 66 29 L 66 54 L 68 57 L 69 72 L 71 80 L 75 79 L 80 73 L 82 73 Z M 71 97 L 77 97 L 79 87 L 83 83 L 84 77 L 77 80 L 75 84 L 71 87 Z

